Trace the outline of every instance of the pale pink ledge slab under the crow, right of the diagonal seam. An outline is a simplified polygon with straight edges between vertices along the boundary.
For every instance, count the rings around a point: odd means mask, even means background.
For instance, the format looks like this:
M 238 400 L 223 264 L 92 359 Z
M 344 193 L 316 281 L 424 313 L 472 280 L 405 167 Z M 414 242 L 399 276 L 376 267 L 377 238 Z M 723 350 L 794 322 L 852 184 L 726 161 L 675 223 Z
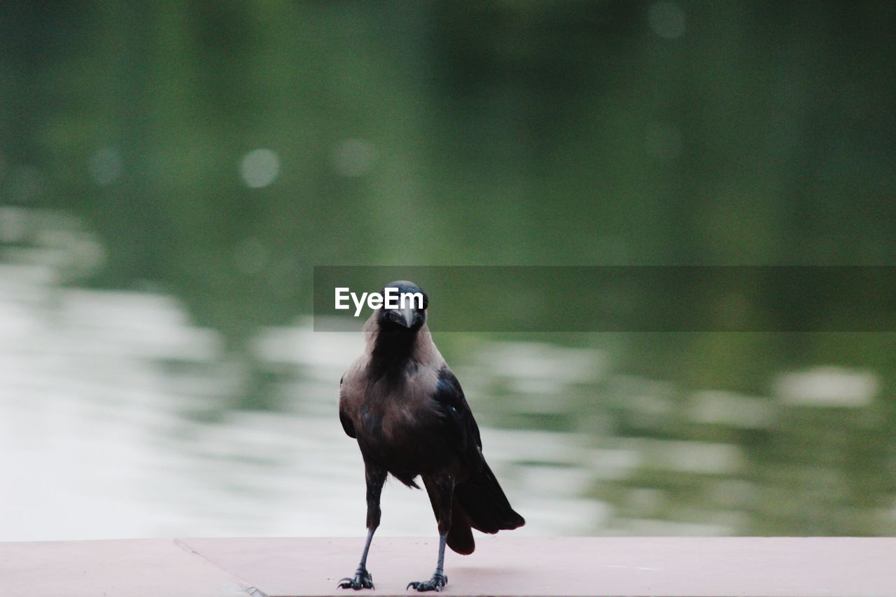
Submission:
M 363 540 L 184 540 L 269 597 L 353 595 Z M 409 594 L 435 567 L 435 540 L 374 540 L 372 595 Z M 477 537 L 445 558 L 447 594 L 896 595 L 896 539 Z

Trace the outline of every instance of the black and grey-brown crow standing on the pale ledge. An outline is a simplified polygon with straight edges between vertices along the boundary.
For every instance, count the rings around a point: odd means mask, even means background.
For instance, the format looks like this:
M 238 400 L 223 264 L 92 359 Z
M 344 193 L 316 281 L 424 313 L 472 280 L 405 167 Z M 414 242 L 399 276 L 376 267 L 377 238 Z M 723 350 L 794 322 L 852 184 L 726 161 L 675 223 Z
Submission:
M 446 545 L 468 555 L 476 548 L 471 529 L 494 534 L 525 520 L 486 463 L 461 384 L 435 347 L 426 324 L 429 297 L 411 281 L 393 281 L 386 289 L 419 293 L 422 301 L 375 308 L 363 327 L 365 350 L 340 379 L 340 422 L 358 441 L 364 461 L 367 536 L 355 575 L 337 586 L 374 588 L 367 554 L 380 524 L 383 484 L 391 474 L 415 489 L 416 479 L 422 480 L 439 533 L 435 572 L 406 589 L 441 591 L 448 583 Z

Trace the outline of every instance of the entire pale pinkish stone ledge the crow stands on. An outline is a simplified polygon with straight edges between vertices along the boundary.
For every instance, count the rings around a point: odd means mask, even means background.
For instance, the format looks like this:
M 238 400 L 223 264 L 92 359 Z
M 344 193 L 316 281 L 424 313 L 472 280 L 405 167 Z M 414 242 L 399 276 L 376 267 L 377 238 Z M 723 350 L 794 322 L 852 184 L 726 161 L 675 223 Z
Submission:
M 0 594 L 355 595 L 363 539 L 181 539 L 0 543 Z M 450 553 L 443 594 L 893 595 L 896 539 L 477 537 Z M 375 539 L 376 590 L 405 591 L 435 565 L 435 540 Z M 367 593 L 367 592 L 365 592 Z

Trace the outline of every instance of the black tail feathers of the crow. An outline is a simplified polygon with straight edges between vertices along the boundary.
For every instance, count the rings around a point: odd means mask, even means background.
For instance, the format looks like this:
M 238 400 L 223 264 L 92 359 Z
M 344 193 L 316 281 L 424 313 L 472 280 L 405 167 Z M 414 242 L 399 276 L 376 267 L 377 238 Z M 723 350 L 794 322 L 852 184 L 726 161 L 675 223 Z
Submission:
M 494 534 L 525 523 L 510 506 L 488 464 L 482 463 L 480 471 L 472 473 L 467 480 L 454 487 L 448 547 L 460 554 L 470 554 L 476 549 L 470 527 Z

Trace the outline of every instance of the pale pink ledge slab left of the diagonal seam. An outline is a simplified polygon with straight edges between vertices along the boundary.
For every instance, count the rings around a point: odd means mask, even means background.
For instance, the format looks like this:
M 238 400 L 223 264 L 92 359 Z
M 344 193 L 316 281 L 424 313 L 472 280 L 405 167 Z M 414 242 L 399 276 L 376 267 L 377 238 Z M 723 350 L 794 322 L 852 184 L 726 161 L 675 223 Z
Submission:
M 166 539 L 0 543 L 3 597 L 246 597 L 247 589 Z

